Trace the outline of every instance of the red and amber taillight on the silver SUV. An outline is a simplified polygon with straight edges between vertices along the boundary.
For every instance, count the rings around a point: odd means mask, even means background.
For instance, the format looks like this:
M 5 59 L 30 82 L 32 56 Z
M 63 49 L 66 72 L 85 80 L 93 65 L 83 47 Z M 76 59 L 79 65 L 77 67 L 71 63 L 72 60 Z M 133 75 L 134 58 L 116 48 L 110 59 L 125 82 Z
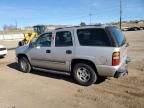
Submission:
M 112 54 L 112 65 L 116 66 L 120 63 L 120 52 L 114 52 Z

